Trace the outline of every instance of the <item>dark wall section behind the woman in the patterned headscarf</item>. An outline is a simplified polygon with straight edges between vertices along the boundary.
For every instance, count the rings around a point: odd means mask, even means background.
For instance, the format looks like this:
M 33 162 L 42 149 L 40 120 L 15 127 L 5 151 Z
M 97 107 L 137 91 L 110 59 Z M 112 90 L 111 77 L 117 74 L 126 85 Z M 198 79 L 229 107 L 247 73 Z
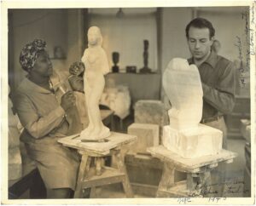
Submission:
M 50 58 L 55 46 L 67 54 L 67 59 L 52 60 L 55 68 L 67 71 L 79 60 L 84 48 L 84 18 L 81 9 L 10 9 L 9 10 L 9 81 L 15 89 L 26 76 L 20 66 L 20 50 L 35 38 L 47 43 Z M 60 68 L 59 68 L 60 67 Z

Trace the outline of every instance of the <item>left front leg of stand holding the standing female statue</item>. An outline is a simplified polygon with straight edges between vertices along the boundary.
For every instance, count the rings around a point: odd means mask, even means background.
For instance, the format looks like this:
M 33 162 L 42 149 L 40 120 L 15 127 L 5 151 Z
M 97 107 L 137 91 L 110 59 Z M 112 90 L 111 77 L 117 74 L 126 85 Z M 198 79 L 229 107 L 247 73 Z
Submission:
M 76 191 L 74 192 L 74 198 L 81 197 L 84 173 L 86 174 L 90 168 L 90 165 L 89 165 L 89 167 L 87 166 L 87 164 L 90 162 L 90 161 L 88 161 L 88 158 L 89 158 L 88 155 L 86 155 L 86 154 L 82 155 L 82 160 L 81 160 L 80 167 L 79 167 L 79 175 L 78 175 L 78 180 L 77 180 Z

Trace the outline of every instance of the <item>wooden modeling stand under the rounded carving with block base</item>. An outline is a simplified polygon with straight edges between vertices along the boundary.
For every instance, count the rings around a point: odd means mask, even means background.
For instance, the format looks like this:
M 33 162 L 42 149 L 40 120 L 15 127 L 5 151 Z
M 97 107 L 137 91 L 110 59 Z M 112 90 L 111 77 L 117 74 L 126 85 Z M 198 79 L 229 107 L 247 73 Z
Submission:
M 164 163 L 163 173 L 156 197 L 201 197 L 201 185 L 211 185 L 211 170 L 218 163 L 232 163 L 236 153 L 222 150 L 217 155 L 186 159 L 171 152 L 164 146 L 149 147 L 148 152 L 158 157 Z M 187 173 L 187 180 L 174 182 L 175 170 Z

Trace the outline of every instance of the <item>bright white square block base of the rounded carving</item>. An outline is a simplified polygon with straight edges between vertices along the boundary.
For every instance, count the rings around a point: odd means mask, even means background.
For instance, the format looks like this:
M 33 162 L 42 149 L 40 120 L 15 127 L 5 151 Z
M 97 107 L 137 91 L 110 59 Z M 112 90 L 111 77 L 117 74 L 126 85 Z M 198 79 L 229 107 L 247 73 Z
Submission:
M 163 146 L 184 158 L 215 155 L 222 149 L 222 131 L 199 124 L 195 129 L 163 129 Z

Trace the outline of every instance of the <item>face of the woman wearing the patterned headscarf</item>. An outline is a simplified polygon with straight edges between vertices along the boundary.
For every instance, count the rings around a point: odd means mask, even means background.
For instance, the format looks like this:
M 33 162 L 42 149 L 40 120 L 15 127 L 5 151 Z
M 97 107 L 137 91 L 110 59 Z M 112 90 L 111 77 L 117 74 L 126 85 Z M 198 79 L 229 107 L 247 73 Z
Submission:
M 46 51 L 41 51 L 32 68 L 32 72 L 39 74 L 42 77 L 49 77 L 52 75 L 52 64 L 49 60 L 49 54 Z

